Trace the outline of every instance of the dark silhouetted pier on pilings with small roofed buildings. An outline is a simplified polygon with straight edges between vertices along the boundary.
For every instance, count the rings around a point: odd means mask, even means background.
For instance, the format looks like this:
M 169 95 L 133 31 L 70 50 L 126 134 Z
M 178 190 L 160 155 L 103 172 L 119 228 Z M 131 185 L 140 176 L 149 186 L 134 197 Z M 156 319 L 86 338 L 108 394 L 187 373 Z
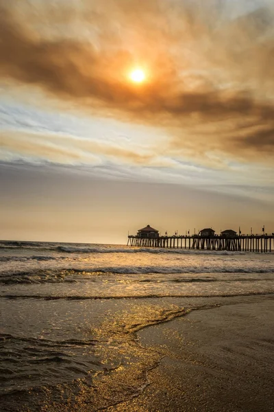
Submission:
M 234 232 L 234 233 L 232 233 Z M 129 235 L 127 246 L 155 247 L 169 249 L 192 249 L 208 251 L 249 251 L 249 252 L 273 252 L 274 233 L 267 235 L 242 235 L 235 231 L 227 230 L 216 235 L 212 229 L 203 229 L 199 234 L 190 236 L 178 235 L 160 236 L 159 231 L 147 225 L 133 236 Z

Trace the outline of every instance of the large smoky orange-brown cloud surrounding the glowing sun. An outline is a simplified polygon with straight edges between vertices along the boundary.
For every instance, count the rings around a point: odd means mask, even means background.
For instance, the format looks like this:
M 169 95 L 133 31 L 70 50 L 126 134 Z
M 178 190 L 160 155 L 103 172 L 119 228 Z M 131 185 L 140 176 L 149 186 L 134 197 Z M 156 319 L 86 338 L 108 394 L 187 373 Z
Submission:
M 270 6 L 229 20 L 213 0 L 98 3 L 0 0 L 1 78 L 166 128 L 178 156 L 273 161 Z M 135 65 L 148 73 L 141 87 L 127 78 Z

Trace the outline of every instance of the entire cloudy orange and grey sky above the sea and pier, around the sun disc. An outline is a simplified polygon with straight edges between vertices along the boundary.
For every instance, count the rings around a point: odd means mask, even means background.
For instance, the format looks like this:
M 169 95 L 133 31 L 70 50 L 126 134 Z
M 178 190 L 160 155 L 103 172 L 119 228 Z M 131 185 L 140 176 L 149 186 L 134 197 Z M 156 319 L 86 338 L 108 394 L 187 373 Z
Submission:
M 273 23 L 272 0 L 0 0 L 0 238 L 274 232 Z

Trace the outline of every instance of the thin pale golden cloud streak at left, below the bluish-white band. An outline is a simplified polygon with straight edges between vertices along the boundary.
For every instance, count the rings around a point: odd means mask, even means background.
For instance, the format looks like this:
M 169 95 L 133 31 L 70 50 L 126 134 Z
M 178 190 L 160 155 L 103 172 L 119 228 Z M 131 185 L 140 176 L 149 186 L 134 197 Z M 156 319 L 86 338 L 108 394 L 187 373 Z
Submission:
M 14 130 L 0 131 L 0 148 L 57 163 L 101 164 L 103 159 L 114 163 L 133 165 L 171 166 L 169 159 L 161 159 L 155 153 L 139 149 L 129 150 L 110 142 L 95 141 L 69 135 L 53 133 L 27 133 Z

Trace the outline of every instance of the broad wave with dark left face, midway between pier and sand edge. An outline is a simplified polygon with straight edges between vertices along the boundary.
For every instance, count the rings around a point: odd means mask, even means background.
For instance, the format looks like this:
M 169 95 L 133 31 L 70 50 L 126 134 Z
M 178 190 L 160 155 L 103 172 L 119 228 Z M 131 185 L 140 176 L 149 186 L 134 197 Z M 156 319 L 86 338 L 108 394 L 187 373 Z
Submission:
M 78 282 L 97 282 L 99 277 L 117 277 L 137 275 L 133 281 L 135 283 L 153 282 L 176 282 L 176 283 L 195 283 L 195 282 L 255 282 L 271 281 L 272 276 L 266 274 L 274 273 L 274 267 L 230 267 L 219 266 L 212 268 L 209 266 L 108 266 L 95 268 L 61 268 L 61 269 L 37 269 L 29 271 L 7 271 L 0 274 L 0 284 L 57 284 L 57 283 L 78 283 Z M 216 277 L 216 275 L 227 274 L 227 277 Z M 232 276 L 229 276 L 231 274 Z M 258 275 L 256 278 L 245 277 L 245 275 Z M 263 275 L 266 276 L 263 276 Z M 138 275 L 150 275 L 145 279 Z M 159 275 L 158 277 L 155 275 Z M 165 275 L 160 277 L 160 275 Z M 171 277 L 174 275 L 180 275 Z M 186 275 L 186 276 L 184 276 Z M 209 276 L 211 275 L 211 276 Z M 237 279 L 234 275 L 238 275 Z M 153 277 L 154 276 L 154 277 Z M 233 277 L 233 279 L 232 279 Z

